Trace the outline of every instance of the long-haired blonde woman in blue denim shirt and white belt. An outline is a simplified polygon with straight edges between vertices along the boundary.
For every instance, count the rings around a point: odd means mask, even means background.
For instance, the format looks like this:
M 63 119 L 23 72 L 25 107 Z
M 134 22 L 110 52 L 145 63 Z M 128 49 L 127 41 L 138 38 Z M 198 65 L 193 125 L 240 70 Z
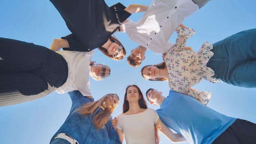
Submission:
M 68 94 L 72 100 L 70 114 L 50 144 L 121 144 L 110 118 L 119 104 L 118 95 L 110 93 L 94 101 L 79 91 Z

